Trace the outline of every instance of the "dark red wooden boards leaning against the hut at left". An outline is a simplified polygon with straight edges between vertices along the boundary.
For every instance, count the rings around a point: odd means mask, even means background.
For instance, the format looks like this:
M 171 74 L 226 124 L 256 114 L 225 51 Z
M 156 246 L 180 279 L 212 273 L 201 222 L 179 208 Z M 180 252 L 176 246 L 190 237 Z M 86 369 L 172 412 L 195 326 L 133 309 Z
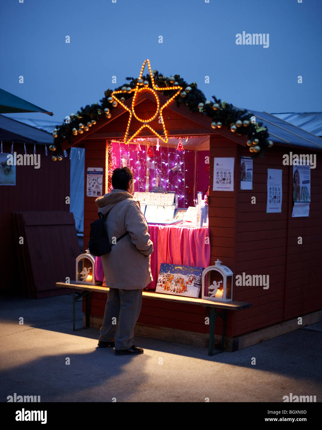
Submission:
M 22 291 L 31 298 L 70 294 L 56 282 L 75 278 L 79 245 L 74 216 L 65 211 L 12 212 Z

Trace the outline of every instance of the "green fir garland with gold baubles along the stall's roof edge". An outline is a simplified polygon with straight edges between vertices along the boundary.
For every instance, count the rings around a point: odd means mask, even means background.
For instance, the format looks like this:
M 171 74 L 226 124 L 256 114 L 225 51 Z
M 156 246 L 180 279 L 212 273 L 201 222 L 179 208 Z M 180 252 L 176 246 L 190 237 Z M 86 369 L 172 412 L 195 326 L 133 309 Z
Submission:
M 171 87 L 173 86 L 173 82 L 170 82 L 169 77 L 164 77 L 158 70 L 154 70 L 154 82 L 156 86 L 159 87 Z M 188 84 L 180 75 L 174 75 L 175 85 L 179 85 L 183 88 L 183 92 L 186 94 L 184 97 L 181 95 L 177 95 L 176 103 L 179 107 L 180 104 L 185 104 L 189 107 L 191 112 L 198 111 L 207 115 L 211 118 L 213 123 L 221 123 L 221 126 L 228 126 L 231 130 L 234 129 L 234 132 L 237 135 L 247 135 L 248 137 L 248 146 L 251 146 L 255 139 L 257 139 L 257 145 L 260 145 L 260 151 L 257 153 L 252 153 L 252 157 L 257 157 L 257 155 L 261 155 L 263 157 L 263 152 L 270 146 L 272 146 L 272 142 L 267 141 L 266 139 L 269 137 L 269 133 L 266 128 L 263 127 L 263 123 L 252 123 L 251 118 L 254 117 L 253 114 L 247 113 L 246 109 L 238 110 L 235 109 L 232 104 L 227 103 L 226 101 L 221 101 L 216 96 L 212 96 L 214 99 L 214 103 L 211 101 L 206 101 L 206 97 L 204 93 L 197 88 L 197 84 L 192 82 Z M 108 108 L 111 116 L 113 116 L 112 102 L 108 101 L 108 98 L 111 97 L 113 91 L 121 90 L 122 87 L 130 87 L 134 89 L 137 85 L 138 78 L 127 77 L 127 83 L 113 89 L 107 89 L 104 92 L 105 97 L 100 100 L 100 104 L 94 103 L 92 105 L 87 104 L 85 107 L 81 107 L 79 111 L 74 116 L 71 116 L 71 122 L 62 123 L 60 126 L 56 126 L 56 137 L 54 138 L 53 145 L 56 147 L 55 151 L 53 151 L 53 155 L 57 155 L 61 152 L 61 142 L 65 139 L 69 142 L 70 145 L 72 142 L 72 130 L 79 129 L 79 123 L 82 123 L 85 127 L 87 123 L 91 121 L 101 121 L 105 120 L 104 109 Z M 149 74 L 142 76 L 142 80 L 149 82 L 149 87 L 152 87 L 151 77 Z M 189 92 L 186 92 L 186 88 L 190 87 Z M 167 97 L 171 97 L 176 93 L 177 90 L 164 90 L 160 91 L 162 94 Z M 182 93 L 183 93 L 182 92 Z M 181 94 L 182 94 L 181 93 Z M 133 97 L 133 93 L 123 92 L 122 96 L 125 100 Z M 214 110 L 214 104 L 217 109 Z M 198 106 L 199 105 L 199 106 Z M 202 105 L 202 106 L 201 106 Z M 238 127 L 235 126 L 236 121 L 249 121 L 248 126 L 240 125 Z M 218 126 L 220 128 L 221 126 Z M 216 128 L 216 127 L 214 127 Z M 86 131 L 84 131 L 86 133 Z

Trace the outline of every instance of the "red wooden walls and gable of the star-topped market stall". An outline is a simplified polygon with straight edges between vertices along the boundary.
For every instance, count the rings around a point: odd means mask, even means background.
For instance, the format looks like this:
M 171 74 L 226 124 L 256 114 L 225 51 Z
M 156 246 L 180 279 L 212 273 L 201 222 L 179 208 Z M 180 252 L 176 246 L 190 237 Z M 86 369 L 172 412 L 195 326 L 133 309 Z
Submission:
M 160 103 L 167 97 L 159 94 Z M 130 106 L 130 101 L 125 102 Z M 155 99 L 145 92 L 136 99 L 136 114 L 150 118 L 155 113 Z M 213 129 L 209 117 L 192 113 L 184 104 L 169 104 L 163 111 L 168 135 L 171 137 L 209 137 L 209 228 L 211 264 L 219 258 L 236 275 L 242 273 L 269 275 L 269 289 L 254 287 L 233 288 L 233 300 L 251 302 L 252 307 L 242 312 L 228 312 L 226 337 L 228 350 L 255 344 L 299 327 L 297 318 L 307 325 L 321 320 L 322 308 L 322 146 L 316 149 L 297 146 L 297 151 L 316 155 L 316 168 L 311 169 L 311 203 L 308 217 L 292 218 L 293 166 L 282 164 L 283 154 L 296 151 L 296 145 L 275 143 L 253 163 L 253 189 L 240 189 L 240 157 L 251 154 L 245 135 L 238 136 L 227 127 Z M 107 189 L 108 145 L 112 139 L 124 137 L 128 113 L 121 105 L 113 109 L 110 119 L 101 120 L 89 132 L 72 138 L 72 146 L 85 148 L 85 178 L 87 167 L 104 167 L 103 190 Z M 280 120 L 280 123 L 283 123 Z M 139 127 L 132 119 L 130 135 Z M 160 130 L 158 117 L 152 128 Z M 159 131 L 160 132 L 160 131 Z M 302 130 L 303 132 L 303 130 Z M 310 133 L 307 133 L 309 135 Z M 151 138 L 153 133 L 143 129 L 140 138 Z M 317 138 L 316 138 L 317 139 Z M 144 143 L 144 142 L 143 142 Z M 62 149 L 71 144 L 62 142 Z M 167 144 L 165 144 L 167 146 Z M 184 147 L 184 142 L 183 142 Z M 214 157 L 234 157 L 234 191 L 213 191 Z M 282 212 L 266 213 L 267 169 L 282 169 Z M 256 204 L 251 203 L 256 197 Z M 97 219 L 95 197 L 84 194 L 84 251 L 90 233 L 90 223 Z M 298 237 L 303 244 L 298 244 Z M 199 252 L 203 252 L 202 249 Z M 106 295 L 92 293 L 91 324 L 100 327 Z M 136 333 L 152 338 L 204 345 L 209 326 L 205 325 L 204 308 L 189 304 L 166 303 L 143 299 Z M 216 322 L 217 338 L 222 332 Z

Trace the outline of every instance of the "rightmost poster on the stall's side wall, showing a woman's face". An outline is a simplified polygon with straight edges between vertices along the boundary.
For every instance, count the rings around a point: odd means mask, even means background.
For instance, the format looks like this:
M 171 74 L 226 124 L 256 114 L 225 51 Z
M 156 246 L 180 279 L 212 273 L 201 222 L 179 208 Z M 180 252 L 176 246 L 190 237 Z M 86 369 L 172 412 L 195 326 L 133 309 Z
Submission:
M 293 162 L 294 163 L 294 162 Z M 311 201 L 311 166 L 293 165 L 293 212 L 292 217 L 309 216 Z

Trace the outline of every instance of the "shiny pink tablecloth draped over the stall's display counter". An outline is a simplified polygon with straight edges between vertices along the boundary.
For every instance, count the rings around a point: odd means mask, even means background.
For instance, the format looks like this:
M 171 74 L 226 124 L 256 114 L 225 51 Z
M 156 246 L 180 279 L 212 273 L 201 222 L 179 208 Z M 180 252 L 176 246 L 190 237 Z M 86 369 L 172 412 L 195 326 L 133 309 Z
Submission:
M 183 223 L 182 223 L 183 224 Z M 161 263 L 184 266 L 210 266 L 209 227 L 195 228 L 180 224 L 171 226 L 149 224 L 153 242 L 151 271 L 153 281 L 146 289 L 155 290 Z M 100 257 L 95 258 L 95 279 L 102 281 L 104 272 Z

